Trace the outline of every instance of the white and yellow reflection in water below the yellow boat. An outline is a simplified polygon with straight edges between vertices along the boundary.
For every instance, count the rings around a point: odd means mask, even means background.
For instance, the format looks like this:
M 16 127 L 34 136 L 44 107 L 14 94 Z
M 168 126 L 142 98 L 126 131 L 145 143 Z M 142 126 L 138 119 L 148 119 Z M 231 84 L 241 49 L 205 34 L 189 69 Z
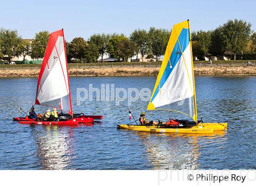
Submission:
M 152 169 L 197 169 L 199 167 L 197 158 L 200 156 L 198 143 L 203 139 L 214 141 L 224 136 L 219 132 L 212 136 L 203 134 L 148 134 L 136 133 L 140 136 L 147 150 L 147 157 Z

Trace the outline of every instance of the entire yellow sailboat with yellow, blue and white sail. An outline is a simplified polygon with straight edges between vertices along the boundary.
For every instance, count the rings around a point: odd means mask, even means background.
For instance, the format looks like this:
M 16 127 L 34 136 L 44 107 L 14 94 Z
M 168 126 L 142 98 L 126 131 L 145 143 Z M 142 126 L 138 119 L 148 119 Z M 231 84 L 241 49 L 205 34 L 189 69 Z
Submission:
M 166 109 L 165 106 L 169 104 L 176 104 L 178 109 Z M 227 128 L 227 123 L 197 121 L 196 89 L 188 20 L 173 26 L 147 110 L 169 110 L 185 114 L 193 119 L 194 125 L 166 127 L 165 124 L 123 124 L 117 127 L 144 132 L 203 134 Z

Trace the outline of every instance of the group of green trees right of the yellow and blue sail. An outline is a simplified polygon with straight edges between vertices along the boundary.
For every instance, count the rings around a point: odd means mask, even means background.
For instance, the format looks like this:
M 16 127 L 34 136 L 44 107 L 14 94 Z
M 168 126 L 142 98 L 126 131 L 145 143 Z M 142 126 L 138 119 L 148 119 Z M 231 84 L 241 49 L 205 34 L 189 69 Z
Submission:
M 242 58 L 242 55 L 256 57 L 256 32 L 251 23 L 243 20 L 229 20 L 212 31 L 193 31 L 191 33 L 193 55 L 199 58 L 216 56 L 222 60 L 224 55 Z

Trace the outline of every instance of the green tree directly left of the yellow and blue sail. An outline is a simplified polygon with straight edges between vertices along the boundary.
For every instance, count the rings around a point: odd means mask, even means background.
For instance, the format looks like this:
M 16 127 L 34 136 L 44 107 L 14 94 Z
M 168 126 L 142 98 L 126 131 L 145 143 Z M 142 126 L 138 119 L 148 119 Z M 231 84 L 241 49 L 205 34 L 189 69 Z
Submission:
M 170 32 L 165 29 L 156 29 L 155 27 L 150 27 L 149 29 L 149 42 L 150 48 L 153 55 L 156 56 L 156 61 L 158 57 L 165 54 L 165 50 L 169 41 Z

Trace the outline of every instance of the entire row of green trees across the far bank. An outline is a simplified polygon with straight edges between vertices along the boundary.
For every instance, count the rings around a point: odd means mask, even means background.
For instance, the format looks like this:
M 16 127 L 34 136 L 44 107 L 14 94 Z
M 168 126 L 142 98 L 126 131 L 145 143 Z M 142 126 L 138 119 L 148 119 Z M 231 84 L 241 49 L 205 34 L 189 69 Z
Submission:
M 76 62 L 96 62 L 104 53 L 119 61 L 127 62 L 129 57 L 140 53 L 142 60 L 148 57 L 164 55 L 171 31 L 150 27 L 149 30 L 136 29 L 130 36 L 124 34 L 93 34 L 86 41 L 82 37 L 75 37 L 71 42 L 65 42 L 67 59 Z M 50 33 L 40 31 L 36 33 L 32 42 L 24 41 L 16 30 L 0 29 L 0 59 L 15 56 L 43 58 Z M 211 31 L 193 31 L 191 33 L 193 55 L 200 58 L 216 56 L 223 58 L 225 53 L 232 54 L 236 60 L 237 54 L 256 54 L 256 32 L 251 30 L 251 23 L 243 20 L 229 20 L 222 26 Z

